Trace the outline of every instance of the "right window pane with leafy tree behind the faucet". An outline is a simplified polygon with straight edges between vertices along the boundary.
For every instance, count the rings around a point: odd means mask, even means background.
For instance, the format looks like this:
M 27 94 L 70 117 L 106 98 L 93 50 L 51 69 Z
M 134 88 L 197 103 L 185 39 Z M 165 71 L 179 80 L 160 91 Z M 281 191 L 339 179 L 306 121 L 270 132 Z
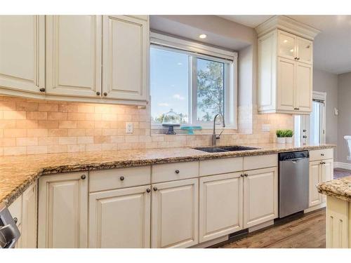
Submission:
M 197 121 L 224 115 L 224 63 L 197 58 Z

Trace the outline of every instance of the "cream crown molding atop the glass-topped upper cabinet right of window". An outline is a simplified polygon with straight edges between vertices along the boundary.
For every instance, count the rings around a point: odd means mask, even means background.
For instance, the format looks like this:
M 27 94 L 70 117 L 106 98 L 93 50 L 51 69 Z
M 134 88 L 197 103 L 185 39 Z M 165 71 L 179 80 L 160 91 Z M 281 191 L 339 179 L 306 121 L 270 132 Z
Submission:
M 285 15 L 274 15 L 269 20 L 258 25 L 255 29 L 258 37 L 263 36 L 274 29 L 282 29 L 285 32 L 310 40 L 313 40 L 320 32 L 319 29 L 305 25 Z

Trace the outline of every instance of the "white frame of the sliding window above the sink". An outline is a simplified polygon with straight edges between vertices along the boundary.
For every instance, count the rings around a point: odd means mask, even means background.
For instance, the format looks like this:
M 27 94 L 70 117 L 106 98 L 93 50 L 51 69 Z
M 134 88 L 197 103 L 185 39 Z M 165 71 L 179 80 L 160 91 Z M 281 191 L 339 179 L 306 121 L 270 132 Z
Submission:
M 224 108 L 226 129 L 237 130 L 237 52 L 228 51 L 201 43 L 178 39 L 173 36 L 151 32 L 150 48 L 169 50 L 189 55 L 188 123 L 180 126 L 213 127 L 211 121 L 197 121 L 197 58 L 224 63 Z M 150 100 L 151 101 L 151 100 Z M 163 128 L 161 123 L 151 123 L 152 129 Z

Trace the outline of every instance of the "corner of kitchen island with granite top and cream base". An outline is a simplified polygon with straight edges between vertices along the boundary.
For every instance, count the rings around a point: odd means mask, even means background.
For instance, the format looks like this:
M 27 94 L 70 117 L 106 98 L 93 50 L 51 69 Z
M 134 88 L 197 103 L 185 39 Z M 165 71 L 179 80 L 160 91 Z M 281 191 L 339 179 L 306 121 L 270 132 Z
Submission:
M 326 248 L 351 248 L 351 176 L 317 184 L 326 195 Z

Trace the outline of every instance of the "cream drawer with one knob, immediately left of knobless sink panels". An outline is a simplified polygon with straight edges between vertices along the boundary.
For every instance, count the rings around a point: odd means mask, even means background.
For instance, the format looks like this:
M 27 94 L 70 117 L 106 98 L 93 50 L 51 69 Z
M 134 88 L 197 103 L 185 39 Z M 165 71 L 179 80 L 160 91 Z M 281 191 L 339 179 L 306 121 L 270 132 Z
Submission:
M 199 162 L 166 163 L 152 166 L 152 184 L 199 176 Z

